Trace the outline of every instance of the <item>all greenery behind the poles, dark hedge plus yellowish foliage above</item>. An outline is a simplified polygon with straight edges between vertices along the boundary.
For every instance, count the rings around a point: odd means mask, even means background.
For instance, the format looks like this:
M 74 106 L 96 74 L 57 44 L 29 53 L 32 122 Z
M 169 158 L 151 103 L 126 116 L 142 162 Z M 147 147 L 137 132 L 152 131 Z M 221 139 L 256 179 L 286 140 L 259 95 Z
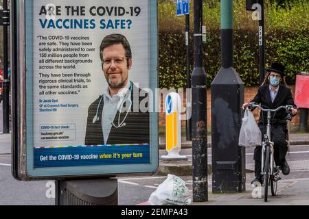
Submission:
M 193 23 L 193 1 L 190 1 L 190 21 Z M 295 75 L 309 71 L 309 0 L 293 1 L 293 8 L 284 10 L 265 1 L 266 68 L 272 61 L 286 66 L 286 81 L 295 83 Z M 233 1 L 233 67 L 245 86 L 258 86 L 258 21 L 246 12 L 244 0 Z M 185 88 L 185 19 L 175 16 L 174 1 L 159 1 L 159 86 Z M 207 0 L 203 6 L 203 25 L 207 27 L 207 43 L 203 60 L 207 86 L 220 69 L 220 1 Z M 191 25 L 193 29 L 193 25 Z M 193 68 L 193 38 L 190 35 L 190 73 Z M 183 46 L 181 46 L 183 45 Z

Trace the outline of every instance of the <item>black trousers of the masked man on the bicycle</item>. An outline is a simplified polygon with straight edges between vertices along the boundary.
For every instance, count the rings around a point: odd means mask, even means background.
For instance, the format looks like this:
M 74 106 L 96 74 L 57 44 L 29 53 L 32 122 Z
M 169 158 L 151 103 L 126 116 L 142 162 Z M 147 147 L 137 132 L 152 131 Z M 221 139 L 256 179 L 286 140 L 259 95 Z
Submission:
M 262 138 L 266 134 L 266 125 L 259 125 L 262 132 Z M 271 127 L 271 140 L 274 142 L 274 153 L 273 157 L 275 159 L 276 166 L 282 166 L 286 161 L 286 153 L 288 152 L 288 142 L 287 140 L 286 125 L 273 125 Z M 256 146 L 254 150 L 255 161 L 255 177 L 261 174 L 261 162 L 262 162 L 262 146 Z

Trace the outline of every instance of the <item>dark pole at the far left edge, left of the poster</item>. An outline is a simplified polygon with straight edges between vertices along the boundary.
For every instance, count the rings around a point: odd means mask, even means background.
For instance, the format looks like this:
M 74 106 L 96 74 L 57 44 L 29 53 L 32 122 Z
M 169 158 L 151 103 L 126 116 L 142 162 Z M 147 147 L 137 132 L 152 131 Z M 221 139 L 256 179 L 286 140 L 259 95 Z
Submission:
M 3 10 L 8 10 L 8 1 L 3 0 Z M 10 133 L 10 83 L 8 79 L 8 23 L 3 23 L 3 133 Z

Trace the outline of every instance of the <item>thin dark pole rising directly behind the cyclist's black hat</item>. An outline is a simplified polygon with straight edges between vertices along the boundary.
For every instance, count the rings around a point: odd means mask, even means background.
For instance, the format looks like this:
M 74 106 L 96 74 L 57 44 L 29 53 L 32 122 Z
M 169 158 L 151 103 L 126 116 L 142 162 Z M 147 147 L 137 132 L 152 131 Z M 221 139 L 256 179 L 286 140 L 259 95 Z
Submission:
M 265 29 L 264 29 L 264 0 L 260 0 L 261 17 L 259 18 L 259 62 L 260 62 L 260 85 L 265 77 Z

